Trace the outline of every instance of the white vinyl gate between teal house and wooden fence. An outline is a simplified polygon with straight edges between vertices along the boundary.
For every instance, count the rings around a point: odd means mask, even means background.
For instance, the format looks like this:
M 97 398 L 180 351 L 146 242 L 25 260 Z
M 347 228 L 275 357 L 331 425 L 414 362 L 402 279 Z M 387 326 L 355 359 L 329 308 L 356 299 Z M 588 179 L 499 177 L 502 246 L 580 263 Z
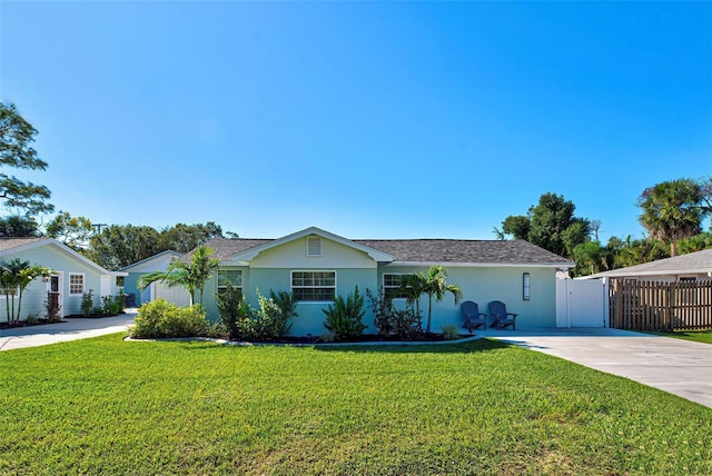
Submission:
M 609 327 L 603 279 L 556 280 L 556 327 Z

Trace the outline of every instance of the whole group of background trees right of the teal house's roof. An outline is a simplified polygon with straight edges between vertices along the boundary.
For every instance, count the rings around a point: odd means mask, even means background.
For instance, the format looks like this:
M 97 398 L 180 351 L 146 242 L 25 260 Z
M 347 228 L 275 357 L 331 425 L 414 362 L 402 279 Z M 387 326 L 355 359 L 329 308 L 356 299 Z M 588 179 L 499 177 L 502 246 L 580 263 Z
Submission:
M 712 215 L 712 179 L 663 181 L 643 190 L 635 205 L 646 237 L 613 236 L 603 245 L 601 221 L 574 216 L 574 204 L 552 192 L 542 195 L 527 215 L 506 217 L 494 232 L 498 239 L 525 239 L 573 259 L 576 276 L 712 248 L 712 228 L 702 229 Z

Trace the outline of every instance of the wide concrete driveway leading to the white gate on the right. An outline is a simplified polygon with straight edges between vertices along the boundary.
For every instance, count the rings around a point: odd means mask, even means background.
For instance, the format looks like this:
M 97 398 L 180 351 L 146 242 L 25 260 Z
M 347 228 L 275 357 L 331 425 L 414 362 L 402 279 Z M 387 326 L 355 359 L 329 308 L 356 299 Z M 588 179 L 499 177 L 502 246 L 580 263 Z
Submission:
M 481 333 L 712 408 L 712 345 L 620 329 L 525 329 Z

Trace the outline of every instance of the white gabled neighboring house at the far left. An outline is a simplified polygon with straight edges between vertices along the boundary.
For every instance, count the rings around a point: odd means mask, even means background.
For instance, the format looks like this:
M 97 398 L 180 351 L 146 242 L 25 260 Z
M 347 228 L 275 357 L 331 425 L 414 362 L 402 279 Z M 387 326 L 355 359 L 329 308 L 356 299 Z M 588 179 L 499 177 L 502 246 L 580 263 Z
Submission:
M 81 314 L 81 298 L 93 291 L 93 307 L 101 305 L 101 296 L 116 296 L 120 280 L 127 272 L 109 271 L 53 238 L 0 238 L 0 261 L 19 258 L 30 266 L 53 270 L 48 278 L 34 279 L 22 295 L 22 316 L 46 317 L 48 294 L 59 301 L 60 315 Z M 4 295 L 0 297 L 0 321 L 7 323 Z M 16 297 L 17 300 L 17 297 Z

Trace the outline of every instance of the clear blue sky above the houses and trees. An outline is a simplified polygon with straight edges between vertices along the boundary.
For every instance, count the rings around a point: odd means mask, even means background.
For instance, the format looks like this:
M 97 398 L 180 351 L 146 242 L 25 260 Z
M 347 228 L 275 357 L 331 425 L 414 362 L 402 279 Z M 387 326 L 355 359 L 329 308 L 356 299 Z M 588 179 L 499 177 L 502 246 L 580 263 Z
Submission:
M 711 2 L 0 3 L 57 209 L 243 237 L 493 239 L 547 191 L 643 235 L 712 175 Z

